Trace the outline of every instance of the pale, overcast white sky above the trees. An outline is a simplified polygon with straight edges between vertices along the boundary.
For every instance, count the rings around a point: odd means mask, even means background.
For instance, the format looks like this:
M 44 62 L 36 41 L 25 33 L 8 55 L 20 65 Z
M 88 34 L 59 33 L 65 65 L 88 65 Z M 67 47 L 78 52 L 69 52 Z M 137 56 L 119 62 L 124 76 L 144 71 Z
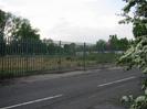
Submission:
M 118 24 L 123 0 L 0 0 L 0 9 L 30 20 L 41 39 L 90 42 L 109 35 L 133 39 L 132 24 Z

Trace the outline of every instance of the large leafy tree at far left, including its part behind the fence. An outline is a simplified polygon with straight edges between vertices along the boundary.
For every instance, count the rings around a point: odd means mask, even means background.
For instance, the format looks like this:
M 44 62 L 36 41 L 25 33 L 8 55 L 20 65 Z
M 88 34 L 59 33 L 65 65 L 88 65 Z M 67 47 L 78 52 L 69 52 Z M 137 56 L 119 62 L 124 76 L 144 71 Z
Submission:
M 40 40 L 38 29 L 33 29 L 27 19 L 15 17 L 0 10 L 0 54 L 4 55 L 7 47 L 11 53 L 41 53 L 46 45 Z M 19 51 L 18 51 L 19 50 Z

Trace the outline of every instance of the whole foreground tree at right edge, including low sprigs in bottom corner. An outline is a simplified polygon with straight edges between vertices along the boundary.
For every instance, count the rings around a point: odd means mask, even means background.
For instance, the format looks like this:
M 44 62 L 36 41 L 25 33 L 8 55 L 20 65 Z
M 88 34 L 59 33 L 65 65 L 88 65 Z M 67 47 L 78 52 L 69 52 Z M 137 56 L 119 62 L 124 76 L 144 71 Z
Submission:
M 120 57 L 119 63 L 128 65 L 128 68 L 136 66 L 147 74 L 147 0 L 124 0 L 123 15 L 126 18 L 120 23 L 133 23 L 135 41 L 130 48 Z M 134 8 L 134 11 L 132 9 Z M 134 13 L 133 17 L 129 14 Z M 147 109 L 147 79 L 144 80 L 143 89 L 145 95 L 137 98 L 124 97 L 130 102 L 130 109 Z

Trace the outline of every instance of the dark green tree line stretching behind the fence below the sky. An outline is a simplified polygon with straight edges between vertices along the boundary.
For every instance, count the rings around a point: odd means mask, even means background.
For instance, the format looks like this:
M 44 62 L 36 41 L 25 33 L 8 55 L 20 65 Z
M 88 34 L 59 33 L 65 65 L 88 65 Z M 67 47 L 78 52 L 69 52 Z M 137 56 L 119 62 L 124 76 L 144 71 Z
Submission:
M 126 51 L 132 41 L 118 39 L 118 36 L 109 35 L 109 40 L 98 40 L 96 44 L 84 46 L 84 43 L 62 44 L 54 43 L 52 40 L 41 40 L 39 29 L 32 28 L 28 19 L 15 17 L 10 12 L 0 10 L 0 55 L 11 54 L 70 54 L 75 55 L 76 52 L 115 52 Z M 84 48 L 85 47 L 85 48 Z

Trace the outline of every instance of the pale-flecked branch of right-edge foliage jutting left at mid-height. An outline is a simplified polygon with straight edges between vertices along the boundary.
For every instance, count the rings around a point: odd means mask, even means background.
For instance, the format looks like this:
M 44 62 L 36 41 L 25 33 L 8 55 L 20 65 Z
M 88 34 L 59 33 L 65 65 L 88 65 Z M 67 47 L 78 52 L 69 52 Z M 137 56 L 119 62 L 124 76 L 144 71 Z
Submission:
M 126 64 L 132 68 L 137 66 L 147 73 L 147 36 L 140 36 L 136 39 L 136 44 L 133 44 L 130 48 L 120 57 L 119 62 Z

